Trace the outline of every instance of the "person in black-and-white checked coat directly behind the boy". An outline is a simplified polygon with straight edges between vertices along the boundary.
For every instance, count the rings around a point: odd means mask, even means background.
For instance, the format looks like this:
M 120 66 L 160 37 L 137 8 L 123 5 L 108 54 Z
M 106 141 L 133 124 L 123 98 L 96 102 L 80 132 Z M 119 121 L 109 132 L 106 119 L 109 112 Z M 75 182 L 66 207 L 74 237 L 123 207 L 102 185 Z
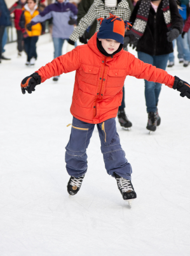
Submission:
M 81 0 L 78 11 L 78 27 L 69 38 L 70 50 L 74 47 L 74 42 L 80 39 L 82 43 L 87 43 L 93 34 L 98 31 L 100 24 L 97 19 L 100 17 L 108 18 L 109 13 L 129 20 L 133 10 L 131 0 Z M 87 31 L 86 31 L 87 29 Z M 127 48 L 125 48 L 127 50 Z M 123 86 L 123 98 L 118 110 L 119 124 L 123 128 L 132 127 L 132 122 L 125 114 L 125 88 Z

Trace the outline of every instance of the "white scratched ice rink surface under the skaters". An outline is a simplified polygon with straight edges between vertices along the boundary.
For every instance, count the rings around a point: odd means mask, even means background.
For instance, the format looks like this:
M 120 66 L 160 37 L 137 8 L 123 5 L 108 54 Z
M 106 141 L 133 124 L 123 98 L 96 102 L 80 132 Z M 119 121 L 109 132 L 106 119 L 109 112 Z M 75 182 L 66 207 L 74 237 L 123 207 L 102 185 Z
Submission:
M 16 54 L 0 65 L 0 255 L 189 256 L 190 100 L 163 85 L 161 125 L 149 135 L 144 80 L 126 77 L 133 126 L 122 130 L 117 120 L 117 128 L 137 199 L 130 209 L 107 175 L 97 128 L 81 190 L 69 197 L 64 154 L 74 72 L 23 95 L 21 80 L 53 59 L 53 44 L 37 52 L 35 68 Z M 190 66 L 175 63 L 167 71 L 190 82 Z

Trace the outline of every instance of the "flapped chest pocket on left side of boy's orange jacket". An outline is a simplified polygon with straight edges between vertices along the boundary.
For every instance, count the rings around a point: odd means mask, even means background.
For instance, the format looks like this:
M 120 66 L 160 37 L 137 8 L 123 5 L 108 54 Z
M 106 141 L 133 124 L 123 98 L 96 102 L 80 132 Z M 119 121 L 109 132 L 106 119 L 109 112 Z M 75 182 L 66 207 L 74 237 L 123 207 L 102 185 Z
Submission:
M 97 66 L 90 66 L 87 64 L 82 64 L 81 70 L 81 80 L 86 84 L 92 84 L 93 86 L 97 86 L 98 73 L 100 68 Z

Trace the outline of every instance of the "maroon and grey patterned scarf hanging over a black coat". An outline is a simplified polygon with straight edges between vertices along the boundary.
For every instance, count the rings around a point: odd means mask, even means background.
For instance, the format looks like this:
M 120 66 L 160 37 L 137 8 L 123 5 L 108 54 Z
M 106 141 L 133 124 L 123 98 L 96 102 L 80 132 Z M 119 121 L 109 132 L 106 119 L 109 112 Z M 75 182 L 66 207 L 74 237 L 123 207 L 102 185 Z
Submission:
M 151 8 L 151 0 L 142 0 L 139 6 L 139 10 L 137 12 L 137 17 L 133 24 L 130 33 L 134 34 L 137 38 L 141 38 L 143 36 L 144 31 L 147 26 L 147 21 L 149 17 L 149 11 Z M 170 4 L 169 0 L 163 0 L 163 16 L 165 19 L 165 24 L 168 27 L 168 30 L 171 26 L 171 14 L 170 14 Z

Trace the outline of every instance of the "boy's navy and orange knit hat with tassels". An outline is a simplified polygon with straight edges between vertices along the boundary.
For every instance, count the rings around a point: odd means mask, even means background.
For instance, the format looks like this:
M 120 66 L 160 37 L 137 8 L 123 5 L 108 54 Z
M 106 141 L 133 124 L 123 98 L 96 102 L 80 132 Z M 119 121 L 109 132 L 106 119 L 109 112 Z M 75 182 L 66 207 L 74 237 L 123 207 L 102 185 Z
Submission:
M 125 30 L 129 29 L 128 25 L 132 25 L 130 22 L 126 20 L 123 21 L 112 13 L 109 13 L 109 15 L 109 18 L 107 19 L 97 19 L 100 20 L 100 29 L 97 33 L 97 38 L 112 39 L 123 44 Z

